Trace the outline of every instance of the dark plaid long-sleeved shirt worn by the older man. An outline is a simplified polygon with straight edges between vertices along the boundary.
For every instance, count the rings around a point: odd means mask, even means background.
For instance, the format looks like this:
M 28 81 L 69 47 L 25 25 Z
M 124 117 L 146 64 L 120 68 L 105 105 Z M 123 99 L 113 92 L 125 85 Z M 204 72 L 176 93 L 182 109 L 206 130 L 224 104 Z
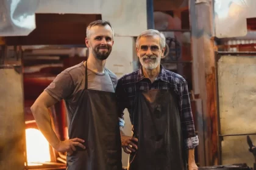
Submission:
M 123 111 L 127 108 L 130 118 L 132 118 L 132 105 L 137 90 L 135 83 L 139 83 L 140 90 L 172 88 L 177 96 L 179 96 L 177 100 L 179 103 L 180 121 L 185 144 L 187 149 L 195 148 L 199 140 L 194 131 L 194 121 L 191 112 L 187 81 L 180 75 L 166 70 L 163 66 L 160 66 L 160 70 L 158 77 L 153 83 L 151 83 L 149 78 L 144 77 L 142 69 L 124 75 L 118 80 L 116 96 L 118 99 L 120 117 L 123 118 Z M 119 120 L 119 125 L 124 126 L 123 119 Z

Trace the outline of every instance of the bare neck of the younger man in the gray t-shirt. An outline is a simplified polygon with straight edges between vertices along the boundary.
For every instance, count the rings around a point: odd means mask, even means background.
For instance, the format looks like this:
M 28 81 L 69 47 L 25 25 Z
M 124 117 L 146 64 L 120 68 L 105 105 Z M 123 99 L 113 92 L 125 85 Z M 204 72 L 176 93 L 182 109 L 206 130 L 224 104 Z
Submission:
M 104 73 L 106 60 L 98 60 L 93 54 L 88 56 L 87 67 L 96 73 Z

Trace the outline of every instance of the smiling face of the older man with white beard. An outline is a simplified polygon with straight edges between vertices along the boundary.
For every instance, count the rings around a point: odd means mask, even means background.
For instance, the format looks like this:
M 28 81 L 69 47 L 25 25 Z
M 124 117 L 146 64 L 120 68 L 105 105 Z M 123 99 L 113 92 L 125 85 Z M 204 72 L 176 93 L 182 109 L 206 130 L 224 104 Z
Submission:
M 154 70 L 160 66 L 160 61 L 165 52 L 165 48 L 160 47 L 160 37 L 142 36 L 138 40 L 137 55 L 144 69 Z

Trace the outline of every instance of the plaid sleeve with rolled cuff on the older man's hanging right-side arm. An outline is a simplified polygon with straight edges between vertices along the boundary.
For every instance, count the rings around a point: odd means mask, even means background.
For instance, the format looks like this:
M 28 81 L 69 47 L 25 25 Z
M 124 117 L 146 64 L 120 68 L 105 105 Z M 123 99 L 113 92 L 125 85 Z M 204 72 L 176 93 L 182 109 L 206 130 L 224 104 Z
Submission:
M 193 115 L 191 111 L 190 96 L 188 94 L 187 81 L 183 80 L 180 85 L 180 121 L 182 135 L 187 149 L 196 148 L 199 144 L 198 137 L 194 129 Z

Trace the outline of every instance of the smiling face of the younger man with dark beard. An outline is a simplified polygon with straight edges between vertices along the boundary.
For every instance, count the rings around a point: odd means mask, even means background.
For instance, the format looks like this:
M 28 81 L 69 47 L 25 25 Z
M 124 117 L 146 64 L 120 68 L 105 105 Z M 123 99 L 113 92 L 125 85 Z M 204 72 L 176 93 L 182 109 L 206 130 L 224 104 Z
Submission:
M 85 39 L 89 52 L 98 60 L 106 60 L 112 51 L 113 31 L 109 25 L 90 28 L 90 36 Z

